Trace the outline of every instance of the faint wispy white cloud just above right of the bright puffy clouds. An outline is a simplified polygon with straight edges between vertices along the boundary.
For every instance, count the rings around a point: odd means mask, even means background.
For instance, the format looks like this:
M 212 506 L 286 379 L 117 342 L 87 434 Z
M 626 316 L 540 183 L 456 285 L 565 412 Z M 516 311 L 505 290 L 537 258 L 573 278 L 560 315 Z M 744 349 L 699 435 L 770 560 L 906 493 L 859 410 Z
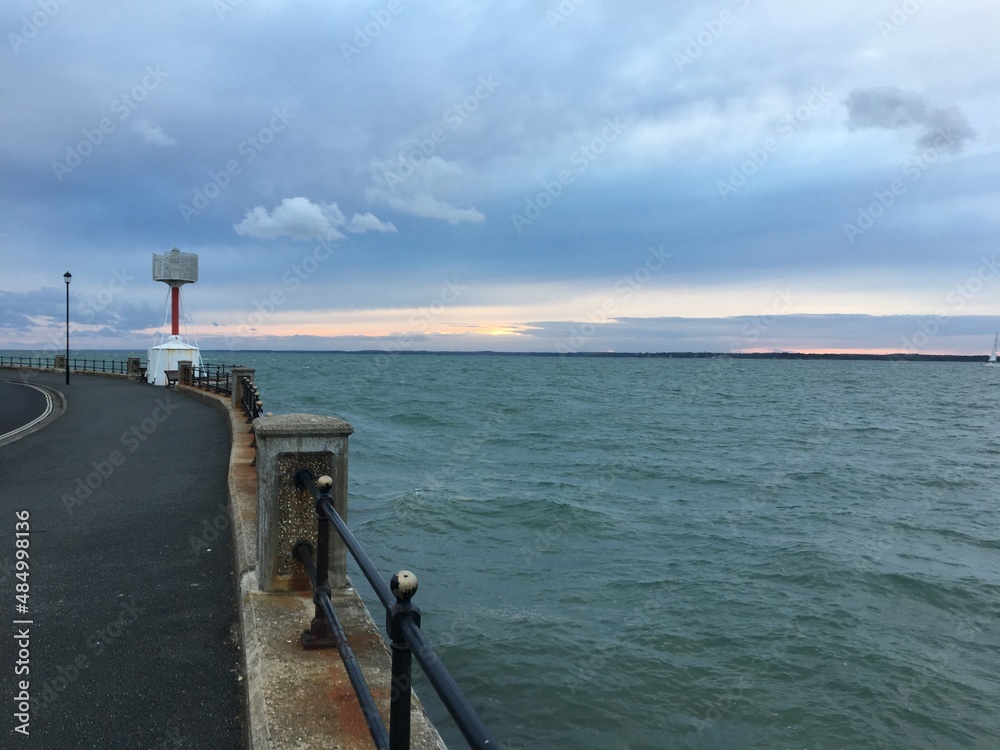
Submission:
M 423 219 L 442 219 L 449 224 L 485 221 L 475 208 L 458 208 L 434 197 L 434 193 L 461 189 L 461 167 L 439 156 L 416 159 L 400 154 L 396 160 L 373 159 L 372 187 L 365 197 L 384 203 L 400 213 Z

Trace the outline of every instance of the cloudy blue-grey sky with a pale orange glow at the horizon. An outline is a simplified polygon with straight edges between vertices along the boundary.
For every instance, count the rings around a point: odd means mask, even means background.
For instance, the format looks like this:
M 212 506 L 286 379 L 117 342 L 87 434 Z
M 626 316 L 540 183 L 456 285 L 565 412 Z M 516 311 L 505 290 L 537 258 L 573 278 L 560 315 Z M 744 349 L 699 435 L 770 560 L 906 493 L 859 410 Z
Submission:
M 988 0 L 6 0 L 0 349 L 985 354 Z

